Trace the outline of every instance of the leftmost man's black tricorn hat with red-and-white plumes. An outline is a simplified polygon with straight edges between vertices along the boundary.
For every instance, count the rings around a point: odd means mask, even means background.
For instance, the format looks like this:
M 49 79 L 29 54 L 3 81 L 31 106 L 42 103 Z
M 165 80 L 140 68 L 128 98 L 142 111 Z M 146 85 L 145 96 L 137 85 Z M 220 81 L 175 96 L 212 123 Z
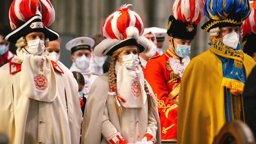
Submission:
M 50 41 L 59 34 L 48 27 L 55 20 L 55 11 L 49 0 L 13 0 L 9 9 L 12 32 L 5 36 L 11 43 L 31 32 L 43 32 Z

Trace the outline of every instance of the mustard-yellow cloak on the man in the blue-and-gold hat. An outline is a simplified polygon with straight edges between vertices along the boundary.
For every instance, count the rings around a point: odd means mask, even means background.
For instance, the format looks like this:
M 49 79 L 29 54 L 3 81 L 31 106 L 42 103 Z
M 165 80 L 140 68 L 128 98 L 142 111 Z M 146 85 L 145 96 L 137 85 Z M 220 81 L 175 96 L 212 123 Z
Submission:
M 255 66 L 244 54 L 245 77 Z M 179 96 L 177 143 L 212 144 L 225 124 L 221 60 L 210 50 L 194 57 L 184 71 Z

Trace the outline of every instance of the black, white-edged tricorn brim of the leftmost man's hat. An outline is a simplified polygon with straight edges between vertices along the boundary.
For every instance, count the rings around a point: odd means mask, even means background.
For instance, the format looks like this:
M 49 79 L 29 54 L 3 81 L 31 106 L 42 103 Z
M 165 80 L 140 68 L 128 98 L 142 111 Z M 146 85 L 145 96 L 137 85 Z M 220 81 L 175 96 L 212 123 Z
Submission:
M 20 39 L 20 37 L 25 36 L 31 32 L 43 32 L 44 36 L 49 38 L 49 41 L 53 41 L 59 38 L 59 33 L 53 31 L 50 28 L 31 28 L 30 25 L 34 22 L 42 22 L 41 17 L 39 15 L 34 15 L 20 27 L 13 29 L 11 33 L 4 37 L 4 40 L 9 41 L 11 43 L 16 43 L 16 41 Z

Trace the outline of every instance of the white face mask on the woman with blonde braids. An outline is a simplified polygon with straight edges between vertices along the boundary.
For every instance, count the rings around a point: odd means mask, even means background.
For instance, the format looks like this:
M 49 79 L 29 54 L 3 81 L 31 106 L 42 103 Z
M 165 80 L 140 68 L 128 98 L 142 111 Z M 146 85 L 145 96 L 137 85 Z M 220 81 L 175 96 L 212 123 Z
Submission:
M 119 55 L 118 55 L 119 56 Z M 119 56 L 121 57 L 121 56 Z M 127 69 L 135 69 L 137 64 L 139 64 L 140 60 L 138 58 L 138 55 L 134 55 L 133 53 L 129 55 L 123 55 L 122 56 L 122 63 L 121 65 L 126 67 Z

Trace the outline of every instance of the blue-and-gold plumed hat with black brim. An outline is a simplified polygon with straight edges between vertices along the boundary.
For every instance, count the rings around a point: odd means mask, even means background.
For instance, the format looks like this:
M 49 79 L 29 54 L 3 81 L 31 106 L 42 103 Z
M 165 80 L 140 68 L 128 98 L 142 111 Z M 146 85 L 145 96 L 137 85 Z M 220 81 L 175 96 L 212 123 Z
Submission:
M 250 13 L 249 0 L 205 0 L 204 14 L 208 21 L 201 29 L 209 32 L 216 27 L 240 27 Z

